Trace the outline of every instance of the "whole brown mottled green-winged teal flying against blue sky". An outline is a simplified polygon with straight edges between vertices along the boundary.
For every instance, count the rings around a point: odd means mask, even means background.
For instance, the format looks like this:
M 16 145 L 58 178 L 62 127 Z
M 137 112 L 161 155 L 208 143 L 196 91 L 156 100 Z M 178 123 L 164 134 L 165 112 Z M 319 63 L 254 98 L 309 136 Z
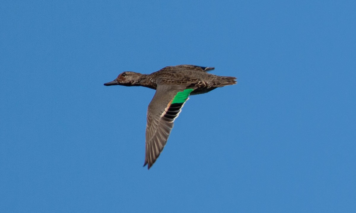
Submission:
M 143 86 L 156 89 L 147 109 L 146 155 L 148 169 L 155 163 L 167 143 L 173 121 L 180 113 L 188 95 L 209 92 L 218 87 L 236 84 L 235 77 L 216 76 L 206 71 L 214 67 L 194 65 L 167 66 L 151 74 L 123 72 L 105 86 Z

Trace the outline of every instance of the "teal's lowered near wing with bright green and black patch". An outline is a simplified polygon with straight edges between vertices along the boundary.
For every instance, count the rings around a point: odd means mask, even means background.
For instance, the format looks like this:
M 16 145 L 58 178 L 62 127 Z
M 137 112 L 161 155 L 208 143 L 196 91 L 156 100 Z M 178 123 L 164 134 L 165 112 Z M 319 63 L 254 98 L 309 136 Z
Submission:
M 147 109 L 146 155 L 148 169 L 155 163 L 166 145 L 173 122 L 180 113 L 188 95 L 194 89 L 183 86 L 158 85 Z

